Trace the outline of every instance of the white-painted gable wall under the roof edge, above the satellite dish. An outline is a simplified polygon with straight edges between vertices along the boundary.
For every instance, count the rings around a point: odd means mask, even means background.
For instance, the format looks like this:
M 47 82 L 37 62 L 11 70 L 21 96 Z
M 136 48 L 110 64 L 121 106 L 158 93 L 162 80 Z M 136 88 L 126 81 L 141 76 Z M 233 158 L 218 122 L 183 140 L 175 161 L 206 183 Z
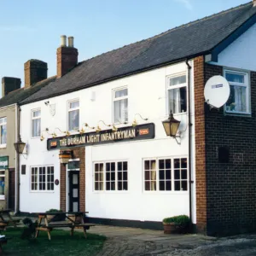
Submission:
M 232 44 L 218 55 L 218 62 L 213 65 L 256 70 L 256 24 L 244 32 Z

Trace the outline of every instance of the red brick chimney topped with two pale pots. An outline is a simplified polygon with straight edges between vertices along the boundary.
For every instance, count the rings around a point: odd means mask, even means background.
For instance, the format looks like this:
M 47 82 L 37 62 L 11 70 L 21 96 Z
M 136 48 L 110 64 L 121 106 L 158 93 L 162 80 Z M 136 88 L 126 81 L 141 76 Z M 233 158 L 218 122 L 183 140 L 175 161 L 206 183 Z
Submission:
M 57 78 L 63 77 L 78 64 L 78 49 L 73 47 L 73 37 L 61 36 L 61 46 L 57 49 Z

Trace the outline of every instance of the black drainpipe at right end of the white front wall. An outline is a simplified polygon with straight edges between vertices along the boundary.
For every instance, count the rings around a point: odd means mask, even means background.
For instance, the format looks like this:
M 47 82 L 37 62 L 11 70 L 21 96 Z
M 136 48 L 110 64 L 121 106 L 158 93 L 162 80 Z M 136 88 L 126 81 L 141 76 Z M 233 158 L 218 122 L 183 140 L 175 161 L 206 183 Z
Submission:
M 190 107 L 190 70 L 191 70 L 191 66 L 189 65 L 189 60 L 186 60 L 186 64 L 188 67 L 188 98 L 189 98 L 189 218 L 191 219 L 191 223 L 192 223 L 192 191 L 191 191 L 191 184 L 194 183 L 194 181 L 192 181 L 192 173 L 191 173 L 191 107 Z

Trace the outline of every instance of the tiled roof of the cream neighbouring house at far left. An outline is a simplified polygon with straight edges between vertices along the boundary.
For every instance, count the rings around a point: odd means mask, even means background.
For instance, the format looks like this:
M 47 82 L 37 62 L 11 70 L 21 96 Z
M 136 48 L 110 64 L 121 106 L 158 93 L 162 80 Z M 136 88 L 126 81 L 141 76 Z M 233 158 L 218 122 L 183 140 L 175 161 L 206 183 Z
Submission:
M 32 96 L 33 93 L 36 93 L 38 92 L 38 90 L 44 88 L 45 85 L 55 81 L 55 79 L 56 76 L 49 79 L 44 79 L 37 84 L 33 84 L 30 88 L 25 89 L 24 87 L 22 87 L 18 90 L 10 92 L 7 96 L 3 96 L 3 98 L 0 99 L 0 108 L 22 102 L 27 97 Z

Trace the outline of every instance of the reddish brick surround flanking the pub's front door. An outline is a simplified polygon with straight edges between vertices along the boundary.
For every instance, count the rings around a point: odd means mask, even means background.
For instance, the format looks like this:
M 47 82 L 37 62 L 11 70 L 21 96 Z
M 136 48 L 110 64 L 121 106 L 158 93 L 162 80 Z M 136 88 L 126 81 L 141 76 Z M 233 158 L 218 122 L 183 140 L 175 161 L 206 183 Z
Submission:
M 85 211 L 85 148 L 70 148 L 73 150 L 73 158 L 80 159 L 80 172 L 79 172 L 79 211 Z M 61 164 L 61 210 L 67 211 L 67 187 L 66 187 L 66 166 Z

